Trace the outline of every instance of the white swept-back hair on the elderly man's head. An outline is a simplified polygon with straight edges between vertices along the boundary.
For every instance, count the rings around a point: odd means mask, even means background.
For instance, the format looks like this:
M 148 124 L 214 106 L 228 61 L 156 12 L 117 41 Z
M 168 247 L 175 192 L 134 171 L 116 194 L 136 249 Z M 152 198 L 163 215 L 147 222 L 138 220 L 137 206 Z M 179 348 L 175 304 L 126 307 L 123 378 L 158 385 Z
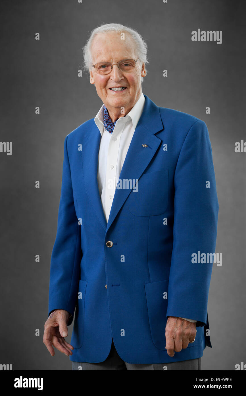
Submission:
M 92 69 L 92 53 L 91 53 L 91 47 L 92 47 L 92 41 L 94 40 L 95 36 L 100 33 L 122 33 L 122 32 L 127 32 L 131 35 L 131 38 L 133 42 L 135 43 L 135 51 L 137 58 L 139 59 L 139 63 L 142 66 L 142 63 L 144 62 L 145 65 L 148 62 L 147 59 L 147 44 L 143 40 L 141 34 L 139 34 L 136 30 L 131 29 L 128 26 L 120 25 L 120 23 L 105 23 L 96 29 L 93 29 L 90 37 L 88 38 L 85 46 L 83 47 L 83 56 L 84 56 L 84 63 L 83 63 L 83 70 L 84 71 L 89 71 Z M 145 68 L 146 70 L 146 68 Z M 147 71 L 147 70 L 146 70 Z M 143 82 L 143 77 L 141 77 L 141 80 Z

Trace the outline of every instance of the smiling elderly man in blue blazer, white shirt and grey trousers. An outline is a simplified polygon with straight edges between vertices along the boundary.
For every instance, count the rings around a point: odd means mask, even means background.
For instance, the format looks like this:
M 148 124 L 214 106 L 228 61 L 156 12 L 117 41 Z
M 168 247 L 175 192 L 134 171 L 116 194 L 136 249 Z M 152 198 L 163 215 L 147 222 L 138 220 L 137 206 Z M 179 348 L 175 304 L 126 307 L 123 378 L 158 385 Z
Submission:
M 43 341 L 74 370 L 199 370 L 212 263 L 193 257 L 214 253 L 218 221 L 206 124 L 142 93 L 135 30 L 94 29 L 84 57 L 103 105 L 65 138 Z

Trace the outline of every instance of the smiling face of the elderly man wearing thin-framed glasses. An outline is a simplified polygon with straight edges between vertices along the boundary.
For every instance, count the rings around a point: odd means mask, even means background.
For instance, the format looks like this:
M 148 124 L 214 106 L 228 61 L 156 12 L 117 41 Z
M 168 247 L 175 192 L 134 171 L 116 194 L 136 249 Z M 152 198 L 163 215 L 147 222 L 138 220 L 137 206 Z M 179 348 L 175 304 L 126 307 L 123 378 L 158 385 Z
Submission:
M 125 33 L 125 40 L 120 34 L 101 33 L 92 42 L 93 65 L 98 62 L 118 63 L 123 59 L 137 60 L 135 46 L 130 36 Z M 90 83 L 95 84 L 98 96 L 107 109 L 124 107 L 125 111 L 131 109 L 139 99 L 141 89 L 141 76 L 146 75 L 145 64 L 136 62 L 135 68 L 130 72 L 122 72 L 118 65 L 113 65 L 109 74 L 97 74 L 94 67 L 90 70 Z M 112 91 L 110 88 L 126 87 L 123 91 Z

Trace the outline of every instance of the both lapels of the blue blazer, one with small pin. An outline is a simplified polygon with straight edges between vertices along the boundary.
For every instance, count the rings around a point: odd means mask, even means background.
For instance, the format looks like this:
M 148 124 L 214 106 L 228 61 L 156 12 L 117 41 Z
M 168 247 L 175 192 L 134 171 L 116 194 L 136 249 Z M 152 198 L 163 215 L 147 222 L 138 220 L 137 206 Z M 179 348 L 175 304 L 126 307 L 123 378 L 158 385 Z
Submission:
M 145 106 L 137 127 L 133 133 L 131 143 L 126 154 L 126 159 L 122 166 L 119 179 L 139 179 L 146 167 L 152 160 L 156 150 L 160 146 L 161 140 L 154 134 L 164 129 L 160 110 L 146 95 Z M 117 189 L 112 202 L 108 223 L 103 213 L 101 197 L 98 190 L 98 152 L 100 147 L 101 134 L 95 122 L 85 135 L 85 143 L 81 151 L 81 164 L 83 168 L 83 178 L 85 190 L 88 198 L 94 207 L 96 215 L 105 229 L 113 223 L 118 211 L 124 204 L 131 189 Z M 148 147 L 143 147 L 146 144 Z

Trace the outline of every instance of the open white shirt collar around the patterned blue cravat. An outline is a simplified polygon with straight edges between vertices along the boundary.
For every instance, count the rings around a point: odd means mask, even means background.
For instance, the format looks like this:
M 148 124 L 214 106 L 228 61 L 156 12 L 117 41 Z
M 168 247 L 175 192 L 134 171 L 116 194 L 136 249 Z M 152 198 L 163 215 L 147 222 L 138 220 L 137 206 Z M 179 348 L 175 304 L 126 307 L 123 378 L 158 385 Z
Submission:
M 117 122 L 119 120 L 120 120 L 120 122 L 127 122 L 127 121 L 131 120 L 133 129 L 135 130 L 137 127 L 137 123 L 139 122 L 139 118 L 141 117 L 141 114 L 143 112 L 144 105 L 145 105 L 145 97 L 142 92 L 137 103 L 135 103 L 135 105 L 130 110 L 130 112 L 126 116 L 118 118 Z M 98 111 L 98 114 L 94 118 L 96 126 L 98 127 L 101 135 L 103 134 L 103 131 L 104 131 L 103 106 L 104 106 L 104 103 L 101 106 L 100 110 Z

